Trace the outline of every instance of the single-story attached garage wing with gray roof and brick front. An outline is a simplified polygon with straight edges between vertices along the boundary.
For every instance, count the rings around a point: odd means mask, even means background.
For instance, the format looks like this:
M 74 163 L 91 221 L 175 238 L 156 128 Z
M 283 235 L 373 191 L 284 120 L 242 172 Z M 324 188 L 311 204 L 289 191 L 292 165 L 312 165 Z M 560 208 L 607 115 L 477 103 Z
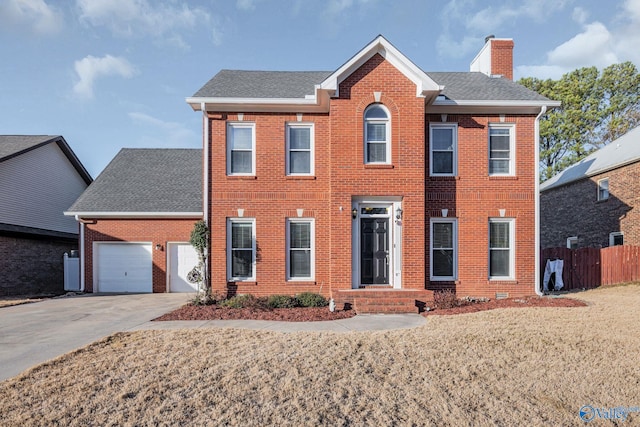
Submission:
M 80 222 L 81 290 L 196 290 L 202 150 L 123 149 L 65 214 Z

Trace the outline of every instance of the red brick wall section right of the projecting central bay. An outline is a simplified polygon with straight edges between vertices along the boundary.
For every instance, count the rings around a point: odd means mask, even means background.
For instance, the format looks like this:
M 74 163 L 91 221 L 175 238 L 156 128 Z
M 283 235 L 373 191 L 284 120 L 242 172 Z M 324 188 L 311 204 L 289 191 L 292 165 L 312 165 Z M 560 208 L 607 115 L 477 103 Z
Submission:
M 499 123 L 498 116 L 447 116 L 447 123 L 458 123 L 458 176 L 429 177 L 425 188 L 427 241 L 426 274 L 430 274 L 429 218 L 458 219 L 458 280 L 430 282 L 429 289 L 454 288 L 459 296 L 486 296 L 506 292 L 510 297 L 534 293 L 535 270 L 535 144 L 534 116 L 506 115 L 505 123 L 516 126 L 516 170 L 513 177 L 489 176 L 488 125 Z M 429 123 L 441 123 L 440 114 L 427 115 Z M 428 139 L 427 131 L 427 139 Z M 429 167 L 427 162 L 427 169 Z M 515 219 L 515 279 L 488 280 L 489 219 Z

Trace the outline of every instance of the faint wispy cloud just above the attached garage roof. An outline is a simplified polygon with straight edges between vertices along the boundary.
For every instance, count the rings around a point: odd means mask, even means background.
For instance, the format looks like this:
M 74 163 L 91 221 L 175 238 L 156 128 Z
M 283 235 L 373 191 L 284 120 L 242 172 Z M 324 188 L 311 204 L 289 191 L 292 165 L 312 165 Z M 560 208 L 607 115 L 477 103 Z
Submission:
M 142 145 L 150 147 L 189 147 L 194 141 L 200 141 L 196 132 L 187 128 L 183 123 L 166 122 L 146 113 L 131 112 L 129 118 L 136 124 L 150 127 Z M 157 136 L 151 136 L 157 135 Z

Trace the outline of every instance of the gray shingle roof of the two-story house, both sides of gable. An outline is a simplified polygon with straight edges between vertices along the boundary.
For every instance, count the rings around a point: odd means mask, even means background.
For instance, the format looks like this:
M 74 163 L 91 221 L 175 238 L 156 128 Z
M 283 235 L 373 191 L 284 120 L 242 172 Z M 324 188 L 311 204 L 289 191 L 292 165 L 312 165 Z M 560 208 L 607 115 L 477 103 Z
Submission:
M 304 98 L 315 94 L 330 71 L 222 70 L 209 80 L 196 98 Z M 506 78 L 479 72 L 430 72 L 444 85 L 443 95 L 453 101 L 548 101 L 547 98 Z

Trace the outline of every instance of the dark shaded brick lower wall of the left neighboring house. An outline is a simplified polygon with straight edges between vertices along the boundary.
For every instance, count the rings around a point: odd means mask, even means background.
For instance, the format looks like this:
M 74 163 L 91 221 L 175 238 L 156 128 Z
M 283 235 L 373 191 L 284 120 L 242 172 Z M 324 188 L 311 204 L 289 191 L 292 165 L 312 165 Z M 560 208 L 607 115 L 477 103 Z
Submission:
M 78 242 L 0 236 L 0 296 L 64 293 L 63 255 Z

